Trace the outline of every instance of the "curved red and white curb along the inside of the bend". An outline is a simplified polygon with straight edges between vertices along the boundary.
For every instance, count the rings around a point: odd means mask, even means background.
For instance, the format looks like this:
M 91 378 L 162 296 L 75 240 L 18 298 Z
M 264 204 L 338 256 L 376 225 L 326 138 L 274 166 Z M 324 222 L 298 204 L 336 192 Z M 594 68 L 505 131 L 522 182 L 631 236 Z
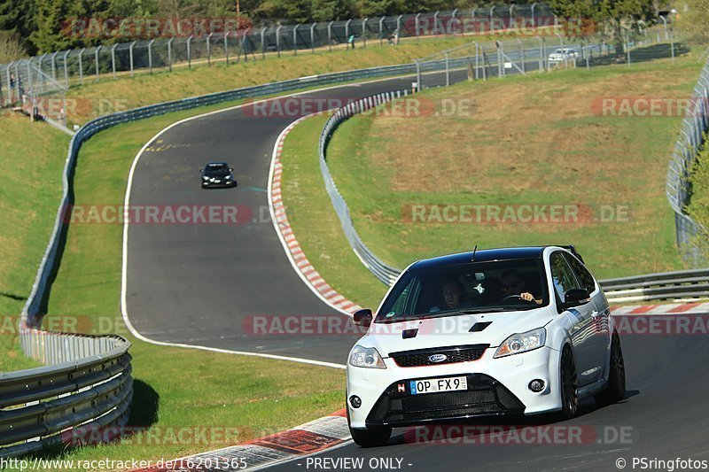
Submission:
M 285 206 L 283 204 L 283 196 L 281 193 L 283 164 L 281 164 L 281 154 L 283 153 L 285 138 L 292 131 L 292 128 L 295 128 L 302 120 L 306 120 L 311 116 L 313 115 L 304 116 L 299 120 L 293 121 L 288 128 L 283 130 L 276 141 L 269 175 L 269 206 L 271 218 L 278 237 L 284 246 L 285 253 L 288 259 L 291 260 L 292 267 L 295 269 L 296 273 L 300 275 L 303 282 L 327 305 L 340 313 L 352 314 L 361 309 L 362 306 L 356 305 L 354 302 L 340 295 L 328 282 L 325 282 L 323 277 L 316 271 L 316 268 L 310 264 L 310 261 L 300 247 L 298 239 L 288 222 L 288 216 L 285 213 Z

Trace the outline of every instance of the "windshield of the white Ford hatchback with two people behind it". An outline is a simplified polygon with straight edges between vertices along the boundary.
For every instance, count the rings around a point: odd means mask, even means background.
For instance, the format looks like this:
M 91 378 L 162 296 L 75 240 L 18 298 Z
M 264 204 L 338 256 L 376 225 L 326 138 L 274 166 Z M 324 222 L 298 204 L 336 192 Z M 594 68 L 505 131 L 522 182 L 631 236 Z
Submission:
M 522 299 L 524 293 L 531 293 L 536 301 Z M 441 265 L 409 269 L 402 275 L 376 322 L 528 310 L 548 304 L 539 258 Z

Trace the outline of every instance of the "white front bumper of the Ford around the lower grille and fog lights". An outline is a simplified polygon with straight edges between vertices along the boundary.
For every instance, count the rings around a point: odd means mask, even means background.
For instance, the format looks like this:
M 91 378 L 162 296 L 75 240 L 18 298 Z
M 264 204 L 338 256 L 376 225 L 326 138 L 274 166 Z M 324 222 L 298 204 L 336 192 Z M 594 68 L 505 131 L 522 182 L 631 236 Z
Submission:
M 386 369 L 347 366 L 347 411 L 353 428 L 404 427 L 429 422 L 446 422 L 479 416 L 537 414 L 561 408 L 558 389 L 560 353 L 540 349 L 493 359 L 489 348 L 479 360 L 401 368 L 386 358 Z M 466 375 L 467 391 L 412 395 L 409 381 Z M 528 388 L 534 379 L 546 384 L 534 393 Z M 349 398 L 362 399 L 354 408 Z

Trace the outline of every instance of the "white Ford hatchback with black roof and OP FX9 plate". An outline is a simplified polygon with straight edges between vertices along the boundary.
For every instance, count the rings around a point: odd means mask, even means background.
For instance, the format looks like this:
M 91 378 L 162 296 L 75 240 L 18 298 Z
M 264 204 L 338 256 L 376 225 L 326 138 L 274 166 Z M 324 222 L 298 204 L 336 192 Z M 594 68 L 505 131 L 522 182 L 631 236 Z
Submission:
M 608 302 L 573 246 L 490 249 L 401 273 L 347 360 L 354 442 L 478 416 L 576 414 L 625 396 Z

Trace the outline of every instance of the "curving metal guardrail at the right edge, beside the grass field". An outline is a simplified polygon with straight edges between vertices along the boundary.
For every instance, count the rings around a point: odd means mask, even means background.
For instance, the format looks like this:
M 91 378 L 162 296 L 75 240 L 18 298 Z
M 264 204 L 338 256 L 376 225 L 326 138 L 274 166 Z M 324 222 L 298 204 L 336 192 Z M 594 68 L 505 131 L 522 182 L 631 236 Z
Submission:
M 683 256 L 695 266 L 705 263 L 705 256 L 697 247 L 696 238 L 706 236 L 707 231 L 693 221 L 685 210 L 690 203 L 690 171 L 705 143 L 709 130 L 709 58 L 702 69 L 692 93 L 682 128 L 674 143 L 674 151 L 667 166 L 666 194 L 674 210 L 674 226 L 677 244 Z

